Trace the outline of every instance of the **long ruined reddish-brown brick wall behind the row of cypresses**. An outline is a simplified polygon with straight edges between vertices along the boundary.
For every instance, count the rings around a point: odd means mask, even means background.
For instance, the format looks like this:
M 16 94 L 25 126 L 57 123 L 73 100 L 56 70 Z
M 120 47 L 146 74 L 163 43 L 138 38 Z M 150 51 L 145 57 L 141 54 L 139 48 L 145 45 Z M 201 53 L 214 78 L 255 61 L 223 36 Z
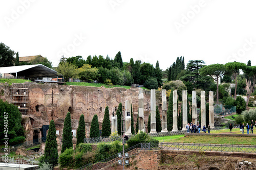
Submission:
M 17 84 L 12 84 L 15 86 Z M 95 114 L 98 115 L 100 124 L 103 121 L 104 110 L 109 106 L 110 119 L 115 107 L 119 103 L 125 104 L 125 100 L 130 100 L 133 107 L 134 126 L 138 114 L 138 88 L 105 88 L 86 86 L 67 86 L 57 84 L 36 84 L 26 83 L 29 88 L 28 114 L 23 117 L 34 119 L 33 128 L 41 128 L 42 125 L 49 125 L 51 119 L 54 120 L 56 130 L 63 128 L 63 123 L 68 111 L 71 113 L 72 129 L 78 128 L 79 117 L 84 114 L 86 122 L 86 134 L 89 136 L 90 124 Z M 1 99 L 11 103 L 11 87 L 0 85 L 0 91 L 4 91 Z M 161 104 L 161 93 L 156 93 L 156 104 Z M 159 107 L 161 113 L 161 107 Z M 147 124 L 150 113 L 150 91 L 144 91 L 144 115 Z

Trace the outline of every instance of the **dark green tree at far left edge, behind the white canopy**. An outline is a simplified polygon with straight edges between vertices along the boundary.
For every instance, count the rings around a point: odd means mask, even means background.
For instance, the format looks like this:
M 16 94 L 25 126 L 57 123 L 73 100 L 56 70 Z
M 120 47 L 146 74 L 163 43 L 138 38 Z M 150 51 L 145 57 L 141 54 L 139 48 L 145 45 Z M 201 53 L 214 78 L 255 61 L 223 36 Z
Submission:
M 9 46 L 0 42 L 0 67 L 13 66 L 14 54 L 14 51 L 12 51 Z

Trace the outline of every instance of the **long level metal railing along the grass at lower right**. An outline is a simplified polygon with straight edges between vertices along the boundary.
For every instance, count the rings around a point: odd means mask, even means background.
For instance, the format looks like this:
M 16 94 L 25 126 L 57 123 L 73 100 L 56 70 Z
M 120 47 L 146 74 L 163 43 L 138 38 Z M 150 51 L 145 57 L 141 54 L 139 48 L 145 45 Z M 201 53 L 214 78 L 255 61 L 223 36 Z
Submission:
M 163 150 L 178 150 L 178 151 L 214 151 L 214 152 L 256 153 L 256 145 L 161 142 L 161 143 L 159 143 L 159 147 Z

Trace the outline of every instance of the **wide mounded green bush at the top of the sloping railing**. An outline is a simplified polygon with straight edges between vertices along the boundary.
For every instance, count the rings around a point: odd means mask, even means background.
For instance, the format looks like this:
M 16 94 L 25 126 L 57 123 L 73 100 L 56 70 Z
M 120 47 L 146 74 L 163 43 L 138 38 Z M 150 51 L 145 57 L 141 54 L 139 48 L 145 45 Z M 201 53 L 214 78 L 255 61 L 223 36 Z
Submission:
M 144 132 L 141 132 L 141 133 L 138 133 L 137 135 L 135 136 L 132 136 L 129 140 L 127 140 L 127 144 L 128 144 L 128 147 L 132 147 L 138 143 L 155 143 L 155 144 L 158 144 L 158 140 L 154 139 L 153 137 L 151 137 L 150 135 L 144 133 Z

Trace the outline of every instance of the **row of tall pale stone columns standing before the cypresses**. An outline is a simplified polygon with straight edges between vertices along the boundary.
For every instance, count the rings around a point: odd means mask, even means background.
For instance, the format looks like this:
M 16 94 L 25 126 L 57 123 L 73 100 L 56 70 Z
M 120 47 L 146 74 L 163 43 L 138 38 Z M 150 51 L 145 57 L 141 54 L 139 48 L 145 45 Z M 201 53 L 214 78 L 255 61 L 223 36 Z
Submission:
M 178 131 L 178 94 L 177 90 L 173 91 L 173 131 Z M 162 90 L 162 132 L 167 132 L 167 104 L 166 90 Z M 197 95 L 192 91 L 192 123 L 197 124 Z M 125 101 L 125 135 L 131 135 L 131 102 Z M 182 130 L 186 130 L 187 125 L 187 91 L 182 91 Z M 144 132 L 144 104 L 143 89 L 139 88 L 139 132 Z M 214 127 L 214 92 L 209 91 L 209 123 Z M 201 126 L 206 124 L 205 113 L 205 91 L 201 91 Z M 112 132 L 117 130 L 117 117 L 112 116 Z M 151 89 L 151 132 L 156 133 L 156 90 Z

